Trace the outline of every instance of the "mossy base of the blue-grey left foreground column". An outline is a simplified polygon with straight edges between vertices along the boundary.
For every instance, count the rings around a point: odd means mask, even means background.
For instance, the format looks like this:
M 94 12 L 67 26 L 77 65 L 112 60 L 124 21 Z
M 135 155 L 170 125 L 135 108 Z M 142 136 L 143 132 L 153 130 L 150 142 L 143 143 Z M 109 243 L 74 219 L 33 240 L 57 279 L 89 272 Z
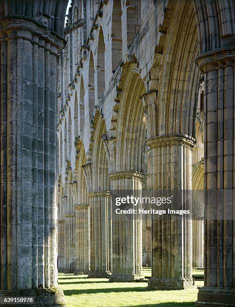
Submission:
M 0 290 L 0 297 L 34 297 L 34 303 L 30 307 L 39 306 L 65 306 L 63 291 L 60 288 L 53 287 L 48 289 L 18 289 L 18 290 Z M 6 304 L 0 304 L 6 306 Z M 25 307 L 25 303 L 17 304 L 18 307 Z

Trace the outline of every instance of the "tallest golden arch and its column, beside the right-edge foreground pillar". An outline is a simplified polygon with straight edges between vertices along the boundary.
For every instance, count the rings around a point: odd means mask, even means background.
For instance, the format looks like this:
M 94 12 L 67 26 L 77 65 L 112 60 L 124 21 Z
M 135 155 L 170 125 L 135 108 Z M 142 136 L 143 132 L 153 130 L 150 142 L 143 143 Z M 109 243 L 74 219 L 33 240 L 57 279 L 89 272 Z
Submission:
M 170 2 L 169 10 L 157 97 L 151 91 L 145 97 L 147 108 L 155 105 L 156 116 L 155 120 L 152 118 L 154 128 L 149 129 L 147 144 L 151 148 L 153 189 L 172 191 L 171 195 L 182 191 L 179 202 L 191 208 L 186 191 L 191 190 L 193 111 L 200 77 L 194 63 L 198 55 L 196 22 L 191 2 Z M 152 231 L 152 277 L 148 286 L 192 287 L 191 220 L 157 217 L 152 222 Z

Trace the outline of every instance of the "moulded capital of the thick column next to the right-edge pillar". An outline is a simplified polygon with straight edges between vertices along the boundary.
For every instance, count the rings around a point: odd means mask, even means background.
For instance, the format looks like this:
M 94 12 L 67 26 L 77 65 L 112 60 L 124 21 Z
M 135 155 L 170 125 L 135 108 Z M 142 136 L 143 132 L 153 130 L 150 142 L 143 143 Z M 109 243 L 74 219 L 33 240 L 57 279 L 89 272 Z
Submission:
M 186 134 L 165 134 L 148 137 L 146 143 L 150 148 L 157 148 L 169 145 L 183 145 L 192 148 L 196 143 L 195 139 Z

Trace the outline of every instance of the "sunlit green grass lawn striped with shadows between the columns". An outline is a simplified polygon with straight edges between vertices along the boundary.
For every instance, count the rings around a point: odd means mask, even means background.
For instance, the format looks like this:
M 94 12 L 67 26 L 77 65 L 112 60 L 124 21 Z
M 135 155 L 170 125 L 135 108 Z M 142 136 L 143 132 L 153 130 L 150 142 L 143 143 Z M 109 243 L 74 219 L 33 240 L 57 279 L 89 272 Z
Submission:
M 144 268 L 145 269 L 145 268 Z M 106 278 L 87 278 L 86 275 L 59 273 L 67 307 L 74 306 L 194 306 L 197 288 L 177 291 L 157 291 L 146 288 L 146 282 L 108 282 Z M 202 286 L 203 281 L 196 281 Z

